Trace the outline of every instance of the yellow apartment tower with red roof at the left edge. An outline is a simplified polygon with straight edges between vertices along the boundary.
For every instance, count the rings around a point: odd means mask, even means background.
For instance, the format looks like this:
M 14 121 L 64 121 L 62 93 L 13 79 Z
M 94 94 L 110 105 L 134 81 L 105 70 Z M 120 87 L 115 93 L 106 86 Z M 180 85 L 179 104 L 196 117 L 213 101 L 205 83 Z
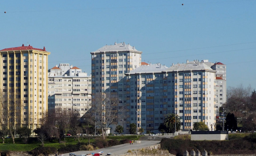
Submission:
M 47 66 L 50 52 L 32 46 L 6 48 L 0 51 L 0 89 L 8 99 L 11 115 L 18 126 L 36 129 L 41 126 L 47 105 Z M 15 99 L 15 100 L 14 100 Z M 0 106 L 0 112 L 3 111 Z M 10 114 L 13 114 L 10 112 Z M 7 119 L 8 120 L 8 119 Z

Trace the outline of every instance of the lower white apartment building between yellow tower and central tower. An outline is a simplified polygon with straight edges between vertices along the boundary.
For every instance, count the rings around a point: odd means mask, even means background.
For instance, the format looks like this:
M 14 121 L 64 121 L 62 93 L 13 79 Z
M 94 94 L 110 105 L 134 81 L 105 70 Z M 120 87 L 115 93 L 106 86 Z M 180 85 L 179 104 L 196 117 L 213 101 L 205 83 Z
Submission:
M 61 68 L 55 66 L 49 71 L 51 73 L 48 75 L 48 109 L 71 111 L 82 118 L 91 107 L 91 76 L 77 67 L 70 67 L 62 72 Z M 57 74 L 61 72 L 64 75 Z

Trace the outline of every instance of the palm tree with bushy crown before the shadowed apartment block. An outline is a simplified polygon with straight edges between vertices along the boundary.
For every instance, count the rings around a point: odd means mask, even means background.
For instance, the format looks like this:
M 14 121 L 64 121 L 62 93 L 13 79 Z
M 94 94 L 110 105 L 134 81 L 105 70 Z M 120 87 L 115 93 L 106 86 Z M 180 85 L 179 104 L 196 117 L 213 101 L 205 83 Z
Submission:
M 176 127 L 175 127 L 176 124 Z M 174 133 L 175 129 L 176 131 L 179 131 L 181 128 L 181 122 L 180 117 L 176 114 L 167 114 L 164 119 L 164 125 L 166 126 L 166 131 L 168 133 Z

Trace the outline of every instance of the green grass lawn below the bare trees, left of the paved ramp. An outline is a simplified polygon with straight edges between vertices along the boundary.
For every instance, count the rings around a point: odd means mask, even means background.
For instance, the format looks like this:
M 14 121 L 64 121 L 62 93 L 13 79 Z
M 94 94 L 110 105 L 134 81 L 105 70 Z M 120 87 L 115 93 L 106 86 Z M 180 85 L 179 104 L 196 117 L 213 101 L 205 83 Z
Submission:
M 101 136 L 97 137 L 101 138 Z M 138 140 L 140 136 L 137 137 L 137 135 L 122 135 L 122 136 L 107 136 L 107 139 L 130 139 L 130 140 Z M 2 151 L 31 151 L 34 148 L 40 147 L 41 142 L 38 141 L 36 137 L 30 137 L 28 140 L 28 144 L 25 144 L 22 142 L 22 138 L 15 138 L 15 144 L 13 144 L 12 138 L 6 138 L 5 143 L 2 144 L 2 139 L 0 139 L 0 149 Z M 64 140 L 62 140 L 63 143 L 58 143 L 56 139 L 53 139 L 52 141 L 45 142 L 45 147 L 55 147 L 57 149 L 64 147 Z M 90 142 L 94 142 L 94 138 L 90 139 Z M 88 143 L 87 137 L 82 139 L 82 143 Z M 66 137 L 66 145 L 75 145 L 78 144 L 78 141 L 74 141 L 73 137 Z

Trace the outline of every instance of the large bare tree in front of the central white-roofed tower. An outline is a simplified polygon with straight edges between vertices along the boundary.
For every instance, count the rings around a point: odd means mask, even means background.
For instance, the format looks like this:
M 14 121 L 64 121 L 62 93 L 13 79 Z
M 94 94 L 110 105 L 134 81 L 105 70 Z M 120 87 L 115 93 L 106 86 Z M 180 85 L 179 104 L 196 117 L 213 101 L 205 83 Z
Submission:
M 118 98 L 99 95 L 92 101 L 92 108 L 88 113 L 91 115 L 91 123 L 96 124 L 102 131 L 102 138 L 105 139 L 109 126 L 118 121 L 118 113 L 122 108 L 118 107 Z

